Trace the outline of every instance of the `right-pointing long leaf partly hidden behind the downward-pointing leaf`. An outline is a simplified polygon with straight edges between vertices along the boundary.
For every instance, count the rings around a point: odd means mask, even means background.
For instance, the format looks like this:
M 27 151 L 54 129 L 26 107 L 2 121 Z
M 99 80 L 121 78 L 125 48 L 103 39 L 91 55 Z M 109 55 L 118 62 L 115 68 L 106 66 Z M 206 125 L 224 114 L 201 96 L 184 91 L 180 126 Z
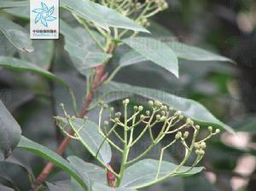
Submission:
M 173 52 L 177 55 L 178 58 L 182 58 L 188 61 L 230 61 L 229 58 L 226 58 L 221 55 L 214 54 L 212 52 L 209 52 L 205 49 L 200 49 L 194 46 L 189 46 L 184 43 L 179 42 L 166 42 L 166 45 L 168 45 Z M 142 61 L 150 61 L 147 57 L 138 54 L 134 50 L 130 50 L 125 55 L 123 55 L 120 59 L 120 66 L 126 67 L 131 64 L 136 64 L 138 62 Z

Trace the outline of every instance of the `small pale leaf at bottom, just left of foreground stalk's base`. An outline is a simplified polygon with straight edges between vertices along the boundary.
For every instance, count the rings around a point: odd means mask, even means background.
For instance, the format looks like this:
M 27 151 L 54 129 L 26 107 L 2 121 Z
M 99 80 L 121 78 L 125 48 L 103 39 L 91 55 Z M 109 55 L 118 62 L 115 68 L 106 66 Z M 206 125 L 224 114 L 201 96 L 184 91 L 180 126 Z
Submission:
M 73 168 L 76 169 L 76 171 L 79 171 L 81 176 L 84 177 L 84 180 L 88 180 L 88 182 L 86 182 L 88 187 L 91 187 L 92 182 L 101 182 L 108 185 L 106 178 L 107 172 L 102 169 L 102 167 L 92 163 L 87 163 L 76 156 L 69 156 L 67 160 L 71 165 L 73 165 Z

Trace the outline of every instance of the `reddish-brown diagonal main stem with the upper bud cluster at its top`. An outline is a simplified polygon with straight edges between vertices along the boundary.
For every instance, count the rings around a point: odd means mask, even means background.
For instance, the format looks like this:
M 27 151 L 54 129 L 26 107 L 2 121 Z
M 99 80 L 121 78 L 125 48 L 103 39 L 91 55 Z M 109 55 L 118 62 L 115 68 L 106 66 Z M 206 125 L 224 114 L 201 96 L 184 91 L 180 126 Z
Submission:
M 148 27 L 150 25 L 148 18 L 168 7 L 165 0 L 146 0 L 143 3 L 140 3 L 137 0 L 100 0 L 94 2 L 100 3 L 108 8 L 115 9 L 120 14 L 128 16 L 144 27 Z M 113 54 L 114 49 L 116 49 L 121 44 L 120 40 L 122 38 L 137 36 L 137 32 L 131 32 L 126 29 L 119 29 L 115 27 L 111 31 L 104 31 L 101 27 L 96 26 L 94 23 L 80 18 L 78 14 L 73 14 L 73 16 L 76 20 L 79 21 L 79 24 L 84 27 L 84 30 L 88 32 L 90 37 L 95 41 L 96 45 L 107 54 Z M 101 34 L 104 40 L 100 41 L 96 37 L 95 32 Z M 113 79 L 116 73 L 119 72 L 120 67 L 116 67 L 113 72 L 110 73 L 110 75 L 105 72 L 105 67 L 109 60 L 110 59 L 104 61 L 99 66 L 90 69 L 90 74 L 86 80 L 86 96 L 82 104 L 82 109 L 79 112 L 76 111 L 78 113 L 77 117 L 84 117 L 84 115 L 90 110 L 90 103 L 93 100 L 96 90 L 102 84 L 108 84 L 108 82 Z M 73 130 L 70 130 L 68 134 L 73 136 Z M 70 136 L 65 137 L 65 139 L 57 148 L 56 153 L 62 155 L 65 152 L 70 138 Z M 54 164 L 49 162 L 44 167 L 44 170 L 39 174 L 36 181 L 33 183 L 32 190 L 36 190 L 46 180 L 53 166 Z

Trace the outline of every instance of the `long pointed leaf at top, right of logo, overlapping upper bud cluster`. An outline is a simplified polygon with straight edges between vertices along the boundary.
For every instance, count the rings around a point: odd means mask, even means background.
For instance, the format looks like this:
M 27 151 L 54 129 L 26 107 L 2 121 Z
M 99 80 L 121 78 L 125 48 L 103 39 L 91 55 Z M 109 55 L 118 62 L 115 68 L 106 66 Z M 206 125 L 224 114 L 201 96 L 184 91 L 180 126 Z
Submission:
M 61 6 L 74 14 L 78 14 L 85 20 L 89 20 L 96 25 L 101 26 L 107 31 L 109 30 L 109 26 L 113 26 L 138 32 L 148 32 L 143 26 L 138 25 L 135 21 L 130 20 L 123 14 L 119 14 L 116 10 L 109 9 L 90 0 L 62 0 Z

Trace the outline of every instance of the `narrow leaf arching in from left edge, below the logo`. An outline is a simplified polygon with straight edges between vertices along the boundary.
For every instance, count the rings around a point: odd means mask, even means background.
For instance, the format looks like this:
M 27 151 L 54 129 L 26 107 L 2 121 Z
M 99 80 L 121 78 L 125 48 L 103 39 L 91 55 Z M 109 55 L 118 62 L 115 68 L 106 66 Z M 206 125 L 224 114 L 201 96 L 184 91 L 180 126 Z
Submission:
M 8 56 L 0 56 L 0 67 L 6 67 L 16 71 L 35 72 L 41 76 L 44 76 L 45 78 L 53 79 L 56 82 L 59 82 L 60 84 L 67 87 L 67 84 L 63 82 L 60 78 L 57 78 L 53 73 L 48 72 L 47 70 L 44 70 L 43 68 L 38 67 L 37 65 L 34 65 L 27 61 L 22 61 L 20 59 Z

